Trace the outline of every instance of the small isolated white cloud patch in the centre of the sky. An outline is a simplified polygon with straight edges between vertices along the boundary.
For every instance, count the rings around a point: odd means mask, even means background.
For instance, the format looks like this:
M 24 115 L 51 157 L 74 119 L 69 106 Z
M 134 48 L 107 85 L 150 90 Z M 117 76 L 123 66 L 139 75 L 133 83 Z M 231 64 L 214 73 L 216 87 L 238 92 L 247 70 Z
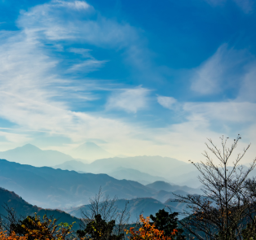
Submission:
M 117 90 L 108 98 L 106 108 L 107 110 L 117 109 L 136 113 L 147 107 L 148 93 L 149 90 L 142 87 Z

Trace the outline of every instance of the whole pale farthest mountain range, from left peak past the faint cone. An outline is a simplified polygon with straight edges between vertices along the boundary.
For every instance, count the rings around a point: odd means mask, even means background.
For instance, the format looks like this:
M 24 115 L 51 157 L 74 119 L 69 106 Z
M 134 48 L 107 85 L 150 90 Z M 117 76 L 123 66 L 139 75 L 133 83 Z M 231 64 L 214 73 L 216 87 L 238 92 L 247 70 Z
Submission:
M 84 158 L 87 153 L 88 159 L 91 155 L 95 157 L 108 155 L 108 152 L 92 142 L 82 144 L 77 148 L 77 152 L 83 153 Z M 0 159 L 36 167 L 47 166 L 77 172 L 106 173 L 119 180 L 139 181 L 144 185 L 154 181 L 168 181 L 194 188 L 201 185 L 197 181 L 197 171 L 192 164 L 161 156 L 108 157 L 96 159 L 89 164 L 84 159 L 74 159 L 60 151 L 42 151 L 37 146 L 27 144 L 0 152 Z

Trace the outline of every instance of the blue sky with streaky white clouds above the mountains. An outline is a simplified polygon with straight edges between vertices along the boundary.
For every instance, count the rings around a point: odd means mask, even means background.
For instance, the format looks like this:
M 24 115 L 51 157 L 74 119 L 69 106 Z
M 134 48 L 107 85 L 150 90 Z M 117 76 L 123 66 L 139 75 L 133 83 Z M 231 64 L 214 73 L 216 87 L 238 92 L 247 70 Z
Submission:
M 0 151 L 256 157 L 256 1 L 0 0 Z M 232 143 L 232 140 L 231 142 Z

